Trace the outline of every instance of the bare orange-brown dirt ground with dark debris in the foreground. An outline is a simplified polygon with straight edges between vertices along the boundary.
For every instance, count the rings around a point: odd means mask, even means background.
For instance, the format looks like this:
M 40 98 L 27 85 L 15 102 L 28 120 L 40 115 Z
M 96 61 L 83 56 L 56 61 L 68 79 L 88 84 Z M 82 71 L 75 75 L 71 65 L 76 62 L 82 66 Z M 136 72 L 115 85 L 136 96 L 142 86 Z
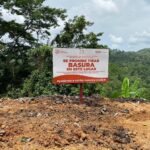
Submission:
M 150 103 L 3 98 L 0 150 L 150 150 Z

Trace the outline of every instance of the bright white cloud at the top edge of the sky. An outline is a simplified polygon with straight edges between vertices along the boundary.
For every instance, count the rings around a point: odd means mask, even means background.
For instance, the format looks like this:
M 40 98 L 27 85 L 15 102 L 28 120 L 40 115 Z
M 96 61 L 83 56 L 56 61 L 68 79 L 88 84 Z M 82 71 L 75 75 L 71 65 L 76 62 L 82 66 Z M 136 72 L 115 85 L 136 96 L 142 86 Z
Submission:
M 97 19 L 97 17 L 103 17 L 104 15 L 106 17 L 117 14 L 119 12 L 119 5 L 114 0 L 84 0 L 82 5 L 75 5 L 68 10 L 73 16 L 80 14 L 93 20 L 94 18 Z

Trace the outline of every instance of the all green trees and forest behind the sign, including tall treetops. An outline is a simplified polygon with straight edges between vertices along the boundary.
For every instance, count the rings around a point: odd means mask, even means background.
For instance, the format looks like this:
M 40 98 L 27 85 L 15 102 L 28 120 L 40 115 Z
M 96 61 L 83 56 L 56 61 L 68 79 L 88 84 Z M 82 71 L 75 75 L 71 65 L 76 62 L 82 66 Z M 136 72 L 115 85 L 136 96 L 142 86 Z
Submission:
M 0 10 L 23 16 L 24 21 L 7 20 L 0 12 L 0 96 L 21 97 L 78 94 L 78 85 L 52 84 L 54 47 L 108 48 L 100 44 L 103 32 L 89 32 L 93 25 L 84 16 L 67 19 L 66 10 L 49 8 L 44 0 L 1 0 Z M 64 28 L 52 39 L 51 29 Z M 150 99 L 150 49 L 125 52 L 110 49 L 109 82 L 85 84 L 85 95 L 123 97 L 123 80 L 129 95 Z

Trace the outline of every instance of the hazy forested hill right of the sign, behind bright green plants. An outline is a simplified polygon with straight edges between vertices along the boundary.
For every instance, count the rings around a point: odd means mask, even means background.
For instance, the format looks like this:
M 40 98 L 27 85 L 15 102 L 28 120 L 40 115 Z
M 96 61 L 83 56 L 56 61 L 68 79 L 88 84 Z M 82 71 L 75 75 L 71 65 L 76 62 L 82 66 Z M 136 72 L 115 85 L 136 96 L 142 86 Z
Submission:
M 150 99 L 150 48 L 137 52 L 110 51 L 110 79 L 113 90 L 119 90 L 124 77 L 131 81 L 139 79 L 140 86 L 147 91 L 144 97 Z

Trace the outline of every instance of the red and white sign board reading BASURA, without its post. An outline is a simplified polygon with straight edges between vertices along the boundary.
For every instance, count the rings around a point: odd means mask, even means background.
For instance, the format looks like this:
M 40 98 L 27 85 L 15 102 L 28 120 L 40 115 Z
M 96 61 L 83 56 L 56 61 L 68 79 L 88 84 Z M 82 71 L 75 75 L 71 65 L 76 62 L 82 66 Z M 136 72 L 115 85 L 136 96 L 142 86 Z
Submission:
M 108 49 L 55 48 L 53 83 L 106 82 L 108 60 Z

